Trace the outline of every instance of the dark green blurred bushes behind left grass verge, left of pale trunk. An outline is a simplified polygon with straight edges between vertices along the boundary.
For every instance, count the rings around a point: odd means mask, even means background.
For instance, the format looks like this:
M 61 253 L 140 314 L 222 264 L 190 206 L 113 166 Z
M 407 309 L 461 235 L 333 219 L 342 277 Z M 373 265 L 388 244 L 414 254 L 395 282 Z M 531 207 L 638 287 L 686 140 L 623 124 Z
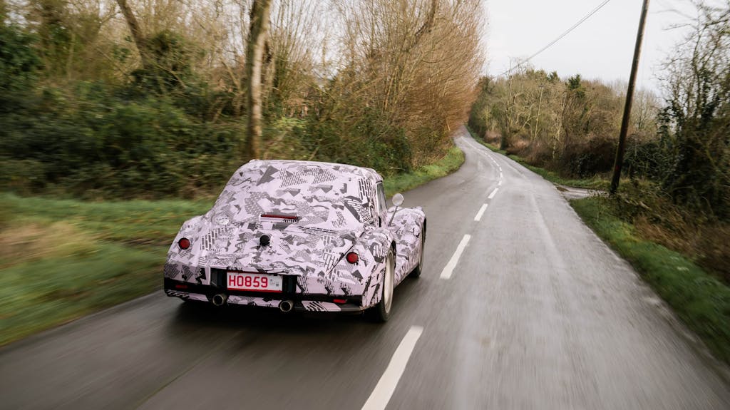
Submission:
M 169 98 L 129 100 L 100 84 L 43 91 L 34 106 L 0 117 L 5 189 L 191 197 L 217 189 L 238 165 L 235 122 L 195 121 Z

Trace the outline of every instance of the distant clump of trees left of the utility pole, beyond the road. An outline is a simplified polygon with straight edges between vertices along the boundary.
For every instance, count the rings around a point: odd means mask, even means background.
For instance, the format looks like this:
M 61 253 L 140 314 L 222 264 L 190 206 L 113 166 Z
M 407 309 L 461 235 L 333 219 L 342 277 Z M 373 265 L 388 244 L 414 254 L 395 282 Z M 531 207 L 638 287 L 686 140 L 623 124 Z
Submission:
M 566 177 L 593 177 L 612 169 L 621 92 L 580 74 L 561 82 L 555 71 L 534 69 L 507 78 L 485 77 L 480 85 L 469 125 L 482 138 L 499 136 L 500 149 Z M 637 111 L 646 109 L 637 104 Z M 652 126 L 642 114 L 634 132 Z

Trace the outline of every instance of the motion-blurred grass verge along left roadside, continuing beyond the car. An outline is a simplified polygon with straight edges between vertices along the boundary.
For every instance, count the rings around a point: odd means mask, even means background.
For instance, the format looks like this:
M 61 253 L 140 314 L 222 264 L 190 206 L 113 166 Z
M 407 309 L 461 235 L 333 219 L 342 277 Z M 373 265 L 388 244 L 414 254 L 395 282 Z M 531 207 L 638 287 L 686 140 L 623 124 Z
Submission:
M 464 153 L 454 147 L 437 163 L 386 179 L 385 189 L 409 190 L 461 163 Z M 178 228 L 214 199 L 85 202 L 0 193 L 0 346 L 158 289 Z

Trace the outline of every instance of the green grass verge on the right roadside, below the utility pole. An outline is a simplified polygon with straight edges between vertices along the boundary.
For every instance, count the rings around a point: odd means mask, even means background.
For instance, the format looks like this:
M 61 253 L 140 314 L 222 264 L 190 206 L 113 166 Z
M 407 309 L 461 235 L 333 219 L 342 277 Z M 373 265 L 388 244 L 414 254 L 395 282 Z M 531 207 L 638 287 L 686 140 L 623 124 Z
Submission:
M 730 363 L 730 287 L 683 255 L 640 239 L 632 225 L 616 216 L 609 201 L 591 197 L 571 204 L 598 236 L 637 268 L 712 353 Z

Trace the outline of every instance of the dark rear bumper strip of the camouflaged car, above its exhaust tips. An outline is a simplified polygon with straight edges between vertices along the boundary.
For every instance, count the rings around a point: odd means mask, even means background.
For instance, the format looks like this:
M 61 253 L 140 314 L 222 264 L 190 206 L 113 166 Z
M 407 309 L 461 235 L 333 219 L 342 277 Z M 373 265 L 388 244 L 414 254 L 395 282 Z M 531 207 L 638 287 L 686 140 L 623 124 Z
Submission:
M 214 295 L 226 295 L 226 304 L 258 306 L 278 309 L 283 301 L 293 302 L 298 312 L 362 312 L 362 295 L 302 294 L 291 291 L 283 293 L 257 293 L 227 290 L 223 287 L 196 285 L 165 279 L 165 293 L 183 300 L 212 303 Z M 344 301 L 344 303 L 343 303 Z

